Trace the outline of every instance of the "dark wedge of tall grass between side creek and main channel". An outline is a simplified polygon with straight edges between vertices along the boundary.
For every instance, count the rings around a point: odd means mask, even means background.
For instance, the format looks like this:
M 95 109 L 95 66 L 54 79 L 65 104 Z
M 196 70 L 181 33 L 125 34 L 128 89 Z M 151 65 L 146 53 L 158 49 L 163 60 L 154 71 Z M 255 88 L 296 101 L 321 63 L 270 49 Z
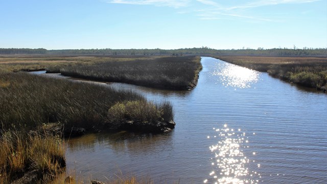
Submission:
M 125 62 L 100 62 L 62 68 L 65 76 L 123 82 L 156 88 L 189 89 L 196 85 L 202 66 L 200 57 L 135 58 Z

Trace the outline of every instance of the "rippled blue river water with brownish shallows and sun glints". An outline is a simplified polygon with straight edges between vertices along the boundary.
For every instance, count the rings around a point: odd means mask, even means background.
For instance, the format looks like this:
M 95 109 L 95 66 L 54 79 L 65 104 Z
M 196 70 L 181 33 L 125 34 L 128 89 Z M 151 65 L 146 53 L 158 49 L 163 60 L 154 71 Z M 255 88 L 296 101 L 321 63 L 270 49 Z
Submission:
M 191 91 L 127 84 L 170 101 L 169 133 L 88 134 L 67 141 L 67 168 L 107 181 L 115 174 L 155 183 L 327 183 L 327 95 L 203 57 Z

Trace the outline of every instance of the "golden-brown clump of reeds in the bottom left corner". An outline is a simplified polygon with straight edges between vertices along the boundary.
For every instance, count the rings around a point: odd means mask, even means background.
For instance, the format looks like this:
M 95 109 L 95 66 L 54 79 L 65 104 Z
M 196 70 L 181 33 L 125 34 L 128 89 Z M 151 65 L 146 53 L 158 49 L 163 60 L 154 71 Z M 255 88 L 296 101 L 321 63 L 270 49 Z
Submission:
M 27 173 L 31 182 L 63 172 L 65 149 L 60 137 L 3 131 L 0 135 L 0 183 L 11 183 Z

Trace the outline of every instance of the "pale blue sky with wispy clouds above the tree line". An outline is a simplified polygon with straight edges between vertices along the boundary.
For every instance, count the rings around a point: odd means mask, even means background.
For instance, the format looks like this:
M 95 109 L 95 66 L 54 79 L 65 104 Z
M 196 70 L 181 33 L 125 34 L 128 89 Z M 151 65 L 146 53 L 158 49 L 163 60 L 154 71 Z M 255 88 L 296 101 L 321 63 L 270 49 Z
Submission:
M 1 0 L 0 48 L 327 48 L 327 0 Z

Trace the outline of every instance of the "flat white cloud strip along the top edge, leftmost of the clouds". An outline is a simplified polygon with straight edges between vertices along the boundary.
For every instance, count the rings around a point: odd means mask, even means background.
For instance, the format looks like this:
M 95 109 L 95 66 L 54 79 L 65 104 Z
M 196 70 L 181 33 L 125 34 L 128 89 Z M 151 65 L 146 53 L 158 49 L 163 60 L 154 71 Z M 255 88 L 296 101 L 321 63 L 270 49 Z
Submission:
M 154 5 L 180 8 L 188 6 L 191 0 L 108 0 L 106 2 L 115 4 Z

